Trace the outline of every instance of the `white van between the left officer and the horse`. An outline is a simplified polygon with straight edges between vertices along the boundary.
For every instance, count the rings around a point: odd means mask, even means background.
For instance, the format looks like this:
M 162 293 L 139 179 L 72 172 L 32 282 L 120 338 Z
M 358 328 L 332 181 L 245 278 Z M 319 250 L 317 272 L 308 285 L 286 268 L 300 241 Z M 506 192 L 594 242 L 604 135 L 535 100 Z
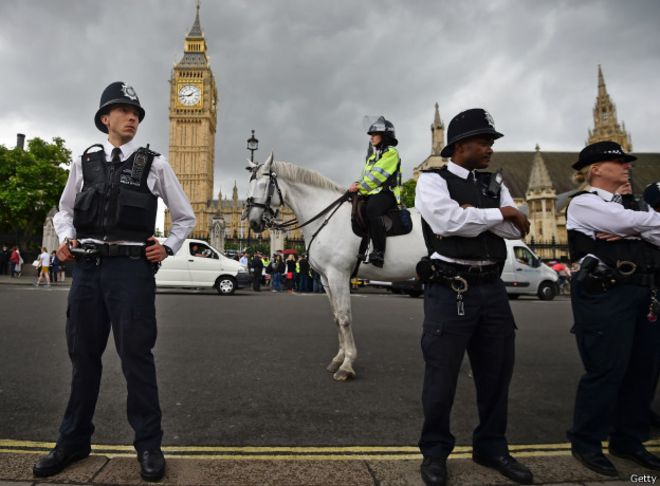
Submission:
M 158 240 L 165 242 L 164 238 Z M 215 288 L 220 295 L 231 295 L 251 281 L 243 265 L 205 241 L 193 239 L 187 239 L 174 256 L 163 260 L 156 273 L 158 287 Z

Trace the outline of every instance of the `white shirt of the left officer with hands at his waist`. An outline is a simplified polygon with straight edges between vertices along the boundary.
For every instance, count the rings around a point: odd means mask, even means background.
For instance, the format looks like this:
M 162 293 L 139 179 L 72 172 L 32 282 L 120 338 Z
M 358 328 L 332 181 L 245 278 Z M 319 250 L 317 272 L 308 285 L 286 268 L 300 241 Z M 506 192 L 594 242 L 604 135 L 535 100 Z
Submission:
M 108 141 L 103 143 L 105 150 L 106 160 L 111 161 L 112 150 L 115 147 Z M 122 162 L 128 159 L 139 146 L 133 141 L 119 147 L 121 150 L 120 159 Z M 74 239 L 76 237 L 76 229 L 73 226 L 73 204 L 76 200 L 76 194 L 82 190 L 83 186 L 83 173 L 81 157 L 76 158 L 71 164 L 71 171 L 69 172 L 69 179 L 66 182 L 62 196 L 60 197 L 59 212 L 53 217 L 53 225 L 55 231 L 63 242 L 65 238 Z M 183 241 L 190 234 L 195 227 L 195 213 L 192 206 L 188 201 L 186 193 L 183 191 L 176 174 L 167 162 L 167 159 L 162 155 L 154 157 L 147 176 L 147 187 L 154 196 L 160 197 L 165 202 L 165 205 L 170 210 L 172 216 L 172 227 L 170 234 L 167 236 L 164 244 L 169 246 L 174 253 L 176 253 Z M 92 241 L 96 243 L 113 243 L 113 244 L 144 244 L 144 242 L 130 242 L 130 241 L 99 241 L 93 239 L 85 239 L 84 241 Z

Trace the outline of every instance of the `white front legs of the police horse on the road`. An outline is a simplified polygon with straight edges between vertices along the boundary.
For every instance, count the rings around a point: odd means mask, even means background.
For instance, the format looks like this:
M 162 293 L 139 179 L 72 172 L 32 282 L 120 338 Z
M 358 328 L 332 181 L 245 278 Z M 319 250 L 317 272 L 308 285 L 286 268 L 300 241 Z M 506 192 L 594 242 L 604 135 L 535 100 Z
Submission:
M 342 350 L 344 354 L 343 362 L 332 377 L 337 381 L 346 381 L 355 378 L 353 362 L 357 358 L 357 348 L 351 329 L 351 283 L 348 275 L 328 275 L 328 288 L 339 331 L 340 353 L 335 359 L 339 359 Z M 333 363 L 334 359 L 331 365 Z

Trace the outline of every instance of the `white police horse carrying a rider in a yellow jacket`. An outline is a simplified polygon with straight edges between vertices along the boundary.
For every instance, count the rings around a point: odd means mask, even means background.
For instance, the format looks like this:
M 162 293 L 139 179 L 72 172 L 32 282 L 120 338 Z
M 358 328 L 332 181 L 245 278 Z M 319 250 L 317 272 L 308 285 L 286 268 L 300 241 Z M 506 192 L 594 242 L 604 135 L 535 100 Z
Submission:
M 265 163 L 250 163 L 252 172 L 247 207 L 247 218 L 255 232 L 261 232 L 273 223 L 282 204 L 293 210 L 297 220 L 304 223 L 337 200 L 346 189 L 317 172 L 280 161 L 273 154 Z M 413 230 L 402 236 L 387 238 L 385 265 L 360 265 L 358 276 L 372 280 L 397 281 L 415 276 L 415 265 L 427 254 L 422 236 L 422 225 L 417 211 L 411 210 Z M 328 213 L 329 215 L 329 213 Z M 355 377 L 353 362 L 357 348 L 351 329 L 350 276 L 356 264 L 361 238 L 351 229 L 351 205 L 344 203 L 321 228 L 328 215 L 305 226 L 303 236 L 309 247 L 309 262 L 321 275 L 321 281 L 330 299 L 339 334 L 339 351 L 327 366 L 333 378 L 345 381 Z

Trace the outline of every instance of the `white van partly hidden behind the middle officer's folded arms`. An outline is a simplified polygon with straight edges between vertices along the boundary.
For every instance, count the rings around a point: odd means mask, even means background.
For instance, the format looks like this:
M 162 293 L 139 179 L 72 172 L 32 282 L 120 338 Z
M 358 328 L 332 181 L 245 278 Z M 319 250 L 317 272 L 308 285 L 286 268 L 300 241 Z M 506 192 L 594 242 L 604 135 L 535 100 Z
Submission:
M 557 295 L 559 276 L 547 266 L 522 240 L 506 241 L 506 262 L 502 281 L 512 299 L 519 295 L 536 295 L 552 300 Z

